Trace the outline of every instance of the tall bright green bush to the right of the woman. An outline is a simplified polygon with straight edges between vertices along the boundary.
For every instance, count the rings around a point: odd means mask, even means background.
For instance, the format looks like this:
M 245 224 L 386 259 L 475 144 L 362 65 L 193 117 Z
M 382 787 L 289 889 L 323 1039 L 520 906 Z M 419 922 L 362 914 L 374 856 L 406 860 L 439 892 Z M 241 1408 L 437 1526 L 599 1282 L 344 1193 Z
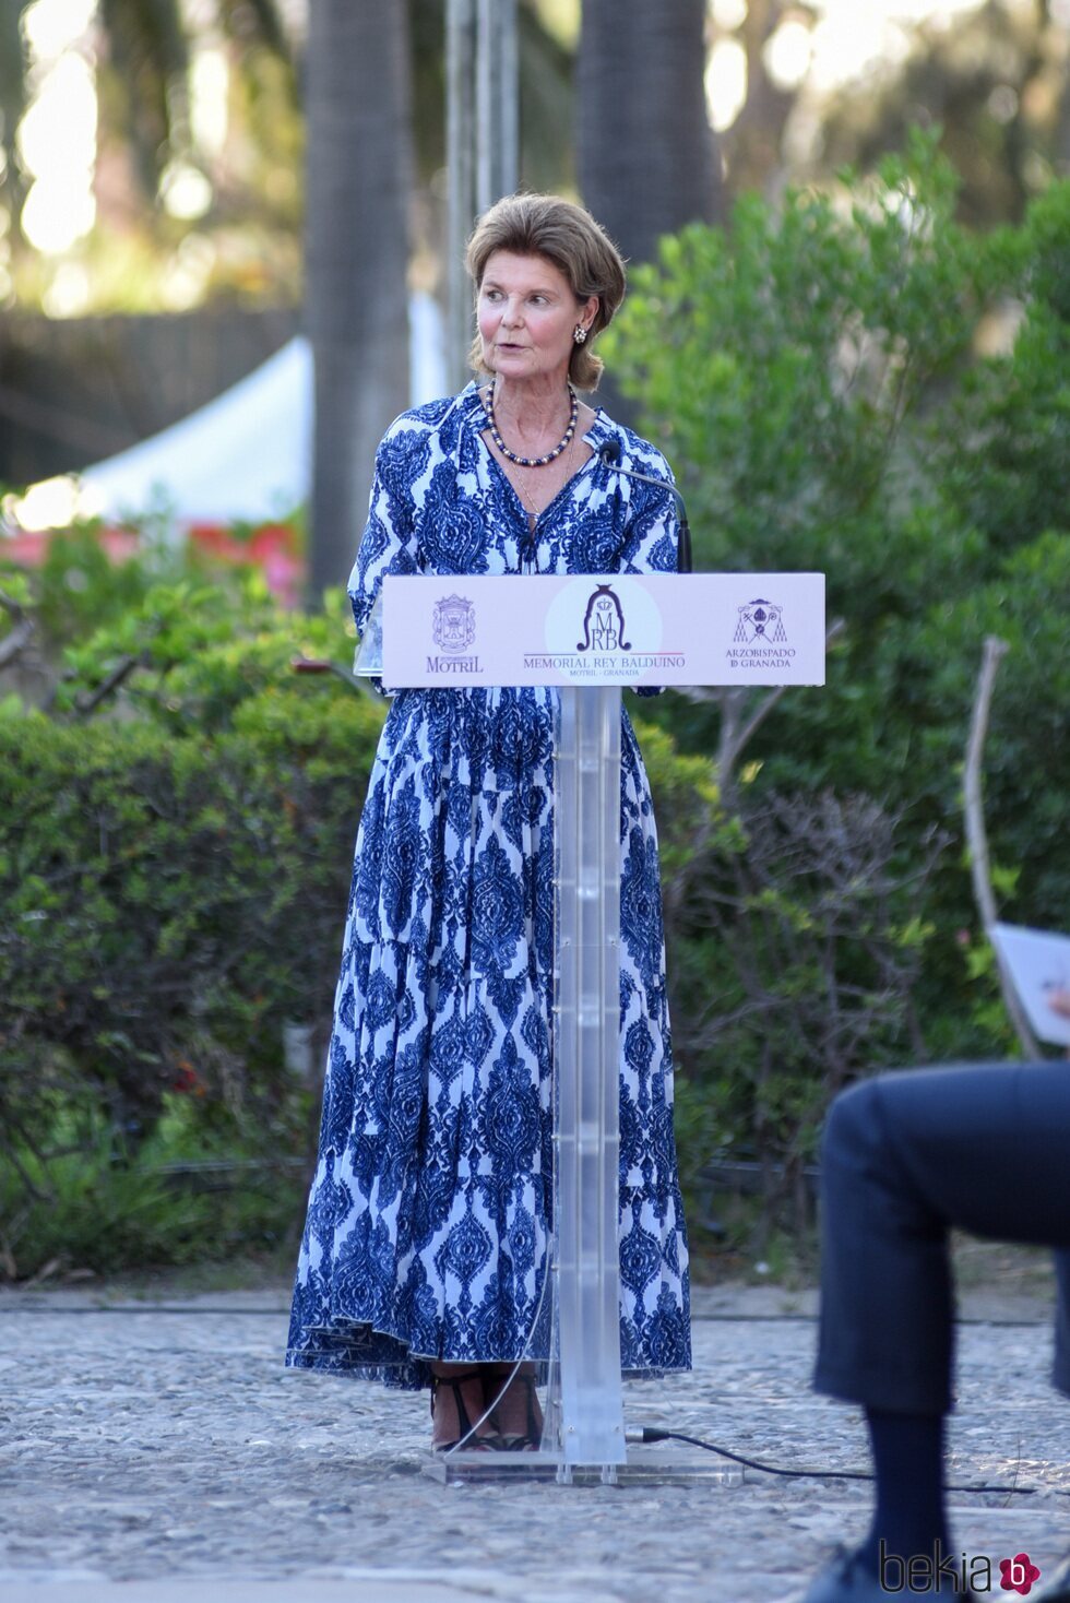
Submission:
M 612 330 L 613 367 L 686 491 L 698 564 L 820 569 L 843 620 L 825 689 L 770 707 L 762 691 L 666 696 L 650 717 L 682 750 L 714 757 L 726 729 L 762 713 L 713 776 L 743 827 L 754 810 L 812 806 L 828 790 L 870 798 L 895 819 L 905 883 L 947 837 L 916 891 L 927 947 L 899 1042 L 910 1058 L 1012 1048 L 977 962 L 959 821 L 987 633 L 1011 644 L 985 753 L 996 890 L 1020 922 L 1065 927 L 1068 906 L 1070 184 L 990 236 L 955 221 L 955 191 L 935 136 L 915 136 L 873 178 L 846 175 L 839 196 L 748 196 L 727 229 L 663 240 Z M 702 944 L 706 923 L 705 971 L 732 994 L 740 947 L 711 933 L 708 909 L 695 922 L 698 885 L 692 875 L 684 928 Z M 754 923 L 748 914 L 742 931 Z M 673 954 L 689 995 L 703 983 L 697 949 Z M 718 1015 L 710 994 L 706 1005 Z M 738 1088 L 746 1072 L 735 1052 L 722 1036 L 722 1066 L 705 1060 L 713 1100 L 718 1076 Z M 831 1068 L 820 1056 L 815 1087 Z M 754 1137 L 743 1119 L 726 1140 Z

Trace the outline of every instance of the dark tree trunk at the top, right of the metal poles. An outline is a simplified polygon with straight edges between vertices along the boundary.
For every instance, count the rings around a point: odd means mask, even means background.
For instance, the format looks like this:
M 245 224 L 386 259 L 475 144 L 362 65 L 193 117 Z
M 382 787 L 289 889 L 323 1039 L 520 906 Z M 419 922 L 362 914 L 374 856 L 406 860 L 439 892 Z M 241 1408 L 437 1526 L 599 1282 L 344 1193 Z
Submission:
M 722 220 L 706 119 L 705 0 L 583 0 L 577 143 L 585 204 L 631 261 L 660 234 Z

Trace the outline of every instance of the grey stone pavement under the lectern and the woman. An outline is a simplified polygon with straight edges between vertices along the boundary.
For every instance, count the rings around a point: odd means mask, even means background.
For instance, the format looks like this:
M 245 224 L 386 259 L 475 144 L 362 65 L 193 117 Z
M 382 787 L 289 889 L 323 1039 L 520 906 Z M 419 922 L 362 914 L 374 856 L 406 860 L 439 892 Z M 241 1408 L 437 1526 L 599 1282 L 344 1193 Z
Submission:
M 2 1603 L 790 1603 L 870 1488 L 440 1486 L 426 1395 L 282 1369 L 285 1292 L 114 1302 L 0 1292 Z M 1070 1544 L 1070 1407 L 1040 1300 L 966 1305 L 956 1548 Z M 867 1468 L 854 1409 L 809 1390 L 812 1297 L 697 1292 L 695 1371 L 630 1385 L 628 1423 L 790 1468 Z M 975 1322 L 996 1316 L 1001 1322 Z M 995 1568 L 993 1597 L 1000 1590 Z

